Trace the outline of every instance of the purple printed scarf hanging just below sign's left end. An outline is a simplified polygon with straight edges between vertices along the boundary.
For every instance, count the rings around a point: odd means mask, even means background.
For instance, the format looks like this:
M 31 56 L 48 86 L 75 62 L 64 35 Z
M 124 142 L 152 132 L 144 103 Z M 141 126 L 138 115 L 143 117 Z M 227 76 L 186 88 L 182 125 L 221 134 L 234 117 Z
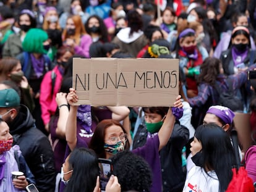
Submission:
M 77 121 L 87 133 L 92 133 L 92 114 L 90 105 L 80 105 L 77 109 Z

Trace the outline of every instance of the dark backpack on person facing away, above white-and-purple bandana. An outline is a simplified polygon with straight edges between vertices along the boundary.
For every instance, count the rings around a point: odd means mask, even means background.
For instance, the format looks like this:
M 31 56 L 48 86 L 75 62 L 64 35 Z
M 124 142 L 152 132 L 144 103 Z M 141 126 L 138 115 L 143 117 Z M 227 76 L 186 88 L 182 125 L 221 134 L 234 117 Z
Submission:
M 238 98 L 234 94 L 232 80 L 229 78 L 226 80 L 228 81 L 228 91 L 223 91 L 217 82 L 215 82 L 215 89 L 220 96 L 218 99 L 218 105 L 228 107 L 232 111 L 243 111 L 244 104 L 242 103 L 242 99 Z

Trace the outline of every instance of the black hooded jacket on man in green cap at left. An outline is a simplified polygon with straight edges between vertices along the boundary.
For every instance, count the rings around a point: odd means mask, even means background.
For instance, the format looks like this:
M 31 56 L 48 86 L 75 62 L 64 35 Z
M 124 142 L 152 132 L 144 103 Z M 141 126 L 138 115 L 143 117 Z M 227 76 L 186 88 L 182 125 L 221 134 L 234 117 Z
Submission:
M 48 138 L 35 127 L 35 120 L 26 106 L 20 105 L 18 115 L 9 123 L 14 144 L 20 146 L 28 167 L 35 176 L 40 192 L 54 191 L 55 170 L 53 149 Z

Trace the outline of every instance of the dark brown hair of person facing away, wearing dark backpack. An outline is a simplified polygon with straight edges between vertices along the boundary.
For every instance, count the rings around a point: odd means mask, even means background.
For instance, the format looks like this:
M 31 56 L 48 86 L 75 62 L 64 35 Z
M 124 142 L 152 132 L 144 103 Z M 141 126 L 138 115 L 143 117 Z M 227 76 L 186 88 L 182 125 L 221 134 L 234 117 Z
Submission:
M 203 61 L 203 64 L 200 65 L 200 75 L 198 75 L 197 83 L 208 83 L 214 86 L 216 78 L 220 74 L 221 67 L 220 59 L 207 57 L 207 59 Z

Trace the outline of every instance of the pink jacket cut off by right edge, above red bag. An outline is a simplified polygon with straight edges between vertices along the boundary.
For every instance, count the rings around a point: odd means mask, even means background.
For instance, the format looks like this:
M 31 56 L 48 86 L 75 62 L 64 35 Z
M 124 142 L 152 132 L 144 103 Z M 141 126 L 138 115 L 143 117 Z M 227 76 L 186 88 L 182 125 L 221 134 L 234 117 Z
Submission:
M 244 156 L 245 169 L 248 172 L 248 176 L 252 178 L 253 182 L 256 182 L 256 146 L 251 146 Z

